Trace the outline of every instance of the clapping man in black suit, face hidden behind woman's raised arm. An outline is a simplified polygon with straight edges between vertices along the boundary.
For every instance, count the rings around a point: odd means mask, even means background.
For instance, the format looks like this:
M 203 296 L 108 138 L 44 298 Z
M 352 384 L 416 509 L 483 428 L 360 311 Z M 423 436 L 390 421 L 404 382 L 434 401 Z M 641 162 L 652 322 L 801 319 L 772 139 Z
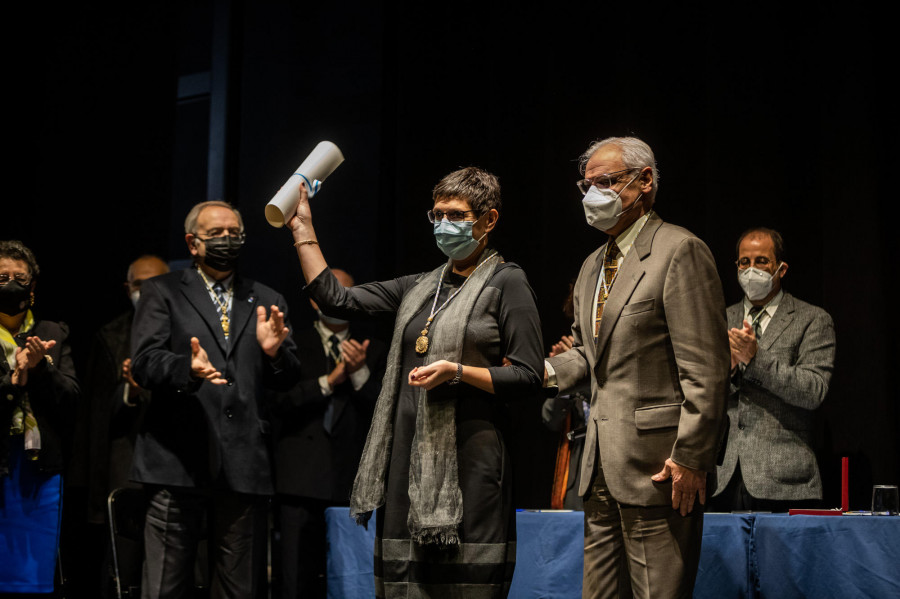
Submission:
M 342 285 L 353 278 L 334 269 Z M 319 312 L 294 334 L 303 379 L 278 395 L 276 498 L 282 594 L 325 597 L 325 508 L 349 505 L 372 408 L 384 376 L 385 346 L 356 338 L 350 323 Z

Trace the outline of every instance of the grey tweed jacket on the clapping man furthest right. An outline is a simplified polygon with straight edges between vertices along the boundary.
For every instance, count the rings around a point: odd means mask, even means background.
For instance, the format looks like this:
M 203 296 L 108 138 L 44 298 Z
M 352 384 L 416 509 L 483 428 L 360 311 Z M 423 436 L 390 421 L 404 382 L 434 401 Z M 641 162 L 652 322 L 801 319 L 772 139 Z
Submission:
M 743 318 L 741 302 L 728 308 L 729 327 L 740 328 Z M 733 377 L 731 428 L 716 493 L 740 461 L 747 491 L 757 499 L 821 499 L 813 411 L 825 399 L 833 366 L 831 316 L 785 293 L 756 356 Z

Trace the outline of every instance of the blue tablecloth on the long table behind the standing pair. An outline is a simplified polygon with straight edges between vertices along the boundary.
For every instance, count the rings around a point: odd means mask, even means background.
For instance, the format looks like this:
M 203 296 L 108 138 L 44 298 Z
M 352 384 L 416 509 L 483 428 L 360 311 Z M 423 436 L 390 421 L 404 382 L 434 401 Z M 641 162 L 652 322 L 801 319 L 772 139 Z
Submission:
M 347 508 L 326 511 L 328 596 L 375 594 L 372 549 Z M 581 512 L 519 512 L 510 597 L 581 597 Z M 900 517 L 706 514 L 694 597 L 900 597 Z

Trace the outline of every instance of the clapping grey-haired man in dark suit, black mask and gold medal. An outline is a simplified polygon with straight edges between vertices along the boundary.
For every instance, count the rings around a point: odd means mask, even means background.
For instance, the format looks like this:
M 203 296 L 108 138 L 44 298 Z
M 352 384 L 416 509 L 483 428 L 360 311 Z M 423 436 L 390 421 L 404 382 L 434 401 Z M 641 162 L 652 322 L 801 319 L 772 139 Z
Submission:
M 144 283 L 132 328 L 132 374 L 152 394 L 132 470 L 148 496 L 142 596 L 190 596 L 208 538 L 210 596 L 249 599 L 274 491 L 265 389 L 290 388 L 300 364 L 284 298 L 235 274 L 237 210 L 197 204 L 184 229 L 194 267 Z

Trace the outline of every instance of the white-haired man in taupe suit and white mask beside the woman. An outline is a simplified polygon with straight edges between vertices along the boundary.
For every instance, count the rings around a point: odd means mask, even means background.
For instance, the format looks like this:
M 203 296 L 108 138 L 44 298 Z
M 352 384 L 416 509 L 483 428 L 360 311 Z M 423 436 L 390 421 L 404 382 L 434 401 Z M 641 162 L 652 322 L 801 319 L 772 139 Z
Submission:
M 547 385 L 591 382 L 584 597 L 615 597 L 629 574 L 635 597 L 690 597 L 728 385 L 721 283 L 706 245 L 653 212 L 646 143 L 604 139 L 581 164 L 585 216 L 609 240 L 581 267 L 574 344 Z

